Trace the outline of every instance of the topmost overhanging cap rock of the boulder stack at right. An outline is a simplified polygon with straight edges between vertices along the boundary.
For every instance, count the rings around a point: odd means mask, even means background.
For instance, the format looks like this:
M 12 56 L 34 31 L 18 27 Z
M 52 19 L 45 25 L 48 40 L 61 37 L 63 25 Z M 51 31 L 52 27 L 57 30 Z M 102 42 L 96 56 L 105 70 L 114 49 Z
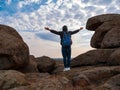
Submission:
M 100 25 L 108 21 L 120 20 L 120 14 L 102 14 L 88 19 L 86 28 L 95 31 Z

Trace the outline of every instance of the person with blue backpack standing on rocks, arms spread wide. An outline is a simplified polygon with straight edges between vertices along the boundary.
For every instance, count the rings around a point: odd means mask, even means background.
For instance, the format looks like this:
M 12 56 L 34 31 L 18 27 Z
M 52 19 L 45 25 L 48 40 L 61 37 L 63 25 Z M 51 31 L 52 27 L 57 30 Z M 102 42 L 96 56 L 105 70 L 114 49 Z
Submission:
M 51 33 L 60 35 L 61 46 L 62 46 L 61 51 L 62 51 L 63 62 L 64 62 L 64 71 L 70 70 L 71 45 L 72 45 L 71 35 L 79 32 L 82 29 L 83 27 L 80 27 L 80 29 L 77 29 L 75 31 L 68 31 L 67 26 L 64 25 L 62 27 L 62 31 L 56 31 L 48 27 L 45 27 L 45 30 L 48 30 Z

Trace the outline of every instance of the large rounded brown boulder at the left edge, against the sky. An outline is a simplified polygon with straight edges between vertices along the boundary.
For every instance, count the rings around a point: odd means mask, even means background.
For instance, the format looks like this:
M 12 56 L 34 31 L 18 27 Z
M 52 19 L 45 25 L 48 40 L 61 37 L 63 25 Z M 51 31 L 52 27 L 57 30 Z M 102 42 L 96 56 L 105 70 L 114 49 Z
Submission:
M 0 69 L 17 69 L 29 63 L 29 48 L 17 31 L 0 25 Z

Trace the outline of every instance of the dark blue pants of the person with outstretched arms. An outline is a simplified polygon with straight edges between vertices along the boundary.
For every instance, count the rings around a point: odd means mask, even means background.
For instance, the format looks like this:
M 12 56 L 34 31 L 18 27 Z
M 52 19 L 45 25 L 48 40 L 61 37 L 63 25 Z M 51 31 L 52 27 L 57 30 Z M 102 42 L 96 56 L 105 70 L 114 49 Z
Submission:
M 62 46 L 62 56 L 63 56 L 63 62 L 64 67 L 68 68 L 70 67 L 70 61 L 71 61 L 71 46 Z

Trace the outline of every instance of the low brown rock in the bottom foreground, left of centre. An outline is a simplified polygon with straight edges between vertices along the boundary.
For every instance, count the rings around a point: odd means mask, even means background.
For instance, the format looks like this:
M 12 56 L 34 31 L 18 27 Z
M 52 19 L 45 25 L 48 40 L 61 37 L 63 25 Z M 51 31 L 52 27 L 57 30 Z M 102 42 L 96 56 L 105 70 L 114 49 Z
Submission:
M 26 79 L 29 85 L 10 90 L 73 90 L 72 83 L 66 77 L 51 76 L 48 73 L 28 73 Z

